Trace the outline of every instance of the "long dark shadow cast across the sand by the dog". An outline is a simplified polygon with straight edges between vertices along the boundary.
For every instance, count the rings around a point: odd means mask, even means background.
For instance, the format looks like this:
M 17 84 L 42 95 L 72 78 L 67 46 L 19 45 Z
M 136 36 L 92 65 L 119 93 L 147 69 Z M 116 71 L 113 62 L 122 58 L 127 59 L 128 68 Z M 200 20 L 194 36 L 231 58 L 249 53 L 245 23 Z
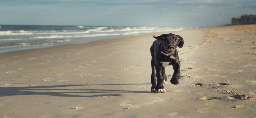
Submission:
M 4 97 L 4 96 L 20 96 L 20 95 L 48 95 L 48 96 L 58 96 L 58 97 L 110 97 L 110 96 L 122 96 L 122 94 L 115 94 L 115 93 L 150 93 L 147 91 L 106 90 L 106 89 L 75 89 L 75 88 L 60 89 L 62 87 L 107 86 L 107 85 L 114 86 L 114 85 L 147 85 L 147 84 L 95 84 L 95 85 L 81 84 L 81 85 L 55 85 L 55 86 L 0 87 L 0 96 Z M 39 92 L 39 91 L 44 91 L 44 92 Z M 58 91 L 58 92 L 47 92 L 47 91 Z M 93 93 L 95 93 L 96 95 L 92 95 Z M 107 93 L 107 94 L 103 94 L 103 93 Z M 71 94 L 89 94 L 89 95 L 83 96 L 83 95 L 71 95 Z

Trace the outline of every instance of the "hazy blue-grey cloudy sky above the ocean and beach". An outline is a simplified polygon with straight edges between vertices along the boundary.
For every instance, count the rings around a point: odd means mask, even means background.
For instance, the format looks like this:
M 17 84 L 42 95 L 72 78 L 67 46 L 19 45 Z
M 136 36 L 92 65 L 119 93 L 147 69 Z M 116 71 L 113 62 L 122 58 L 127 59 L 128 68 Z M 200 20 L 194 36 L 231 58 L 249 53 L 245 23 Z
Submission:
M 0 0 L 0 24 L 208 27 L 256 14 L 256 0 Z

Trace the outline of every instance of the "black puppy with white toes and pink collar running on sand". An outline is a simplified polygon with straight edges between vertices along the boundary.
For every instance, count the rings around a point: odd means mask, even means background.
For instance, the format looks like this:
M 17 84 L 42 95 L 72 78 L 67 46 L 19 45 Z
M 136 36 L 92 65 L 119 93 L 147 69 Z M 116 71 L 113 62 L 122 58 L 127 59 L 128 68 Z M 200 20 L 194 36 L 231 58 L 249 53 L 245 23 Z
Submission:
M 184 41 L 181 36 L 172 33 L 153 37 L 157 40 L 150 47 L 152 56 L 151 92 L 165 93 L 163 83 L 167 83 L 166 66 L 173 65 L 174 73 L 170 82 L 179 84 L 181 63 L 176 48 L 177 46 L 182 48 Z

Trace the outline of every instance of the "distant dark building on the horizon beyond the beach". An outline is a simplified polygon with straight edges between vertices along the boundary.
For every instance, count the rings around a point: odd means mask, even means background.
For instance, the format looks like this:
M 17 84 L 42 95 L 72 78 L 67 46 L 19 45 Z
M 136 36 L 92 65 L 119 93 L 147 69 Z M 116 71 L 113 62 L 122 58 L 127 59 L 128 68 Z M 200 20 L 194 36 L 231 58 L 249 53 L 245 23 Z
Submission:
M 256 24 L 256 15 L 241 15 L 231 19 L 232 24 Z

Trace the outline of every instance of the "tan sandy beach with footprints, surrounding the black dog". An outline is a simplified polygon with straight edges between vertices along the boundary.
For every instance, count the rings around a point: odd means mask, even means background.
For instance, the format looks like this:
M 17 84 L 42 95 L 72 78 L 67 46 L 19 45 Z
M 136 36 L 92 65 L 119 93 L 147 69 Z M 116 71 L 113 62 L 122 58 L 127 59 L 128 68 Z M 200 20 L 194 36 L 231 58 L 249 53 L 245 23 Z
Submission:
M 0 54 L 0 117 L 256 117 L 256 25 L 190 29 L 150 93 L 153 35 Z

